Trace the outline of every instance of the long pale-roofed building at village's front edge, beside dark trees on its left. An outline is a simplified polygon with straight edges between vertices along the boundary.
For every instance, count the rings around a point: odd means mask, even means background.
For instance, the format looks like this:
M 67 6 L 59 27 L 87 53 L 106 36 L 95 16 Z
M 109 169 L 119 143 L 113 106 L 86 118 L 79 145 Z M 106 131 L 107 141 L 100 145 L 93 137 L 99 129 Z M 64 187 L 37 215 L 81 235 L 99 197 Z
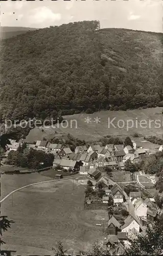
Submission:
M 68 170 L 69 168 L 73 170 L 77 170 L 79 168 L 79 163 L 74 160 L 69 159 L 54 159 L 53 161 L 53 167 L 56 167 L 57 165 L 60 165 L 60 167 Z

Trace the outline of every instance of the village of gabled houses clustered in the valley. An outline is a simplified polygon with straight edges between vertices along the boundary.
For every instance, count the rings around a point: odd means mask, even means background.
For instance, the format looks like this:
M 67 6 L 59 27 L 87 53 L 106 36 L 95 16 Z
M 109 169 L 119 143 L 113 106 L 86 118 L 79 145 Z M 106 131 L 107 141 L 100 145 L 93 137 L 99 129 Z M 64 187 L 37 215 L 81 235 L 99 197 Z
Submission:
M 6 155 L 16 151 L 20 142 L 11 140 Z M 103 228 L 103 246 L 111 255 L 121 255 L 129 245 L 128 238 L 146 232 L 160 213 L 154 195 L 147 188 L 155 187 L 155 177 L 142 172 L 126 171 L 126 162 L 138 163 L 144 156 L 162 152 L 163 145 L 151 152 L 143 143 L 132 140 L 132 146 L 123 144 L 99 144 L 71 148 L 45 140 L 27 144 L 28 148 L 54 155 L 55 179 L 62 179 L 65 173 L 87 177 L 84 208 L 108 211 L 107 225 L 102 219 L 97 226 Z

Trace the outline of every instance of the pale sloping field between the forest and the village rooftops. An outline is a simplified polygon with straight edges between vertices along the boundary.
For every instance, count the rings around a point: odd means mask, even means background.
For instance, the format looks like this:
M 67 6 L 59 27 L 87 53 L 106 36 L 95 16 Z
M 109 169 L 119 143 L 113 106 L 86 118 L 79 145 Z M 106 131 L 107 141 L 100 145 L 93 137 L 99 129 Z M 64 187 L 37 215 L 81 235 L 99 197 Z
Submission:
M 143 141 L 144 136 L 155 135 L 158 137 L 162 136 L 161 130 L 158 129 L 154 122 L 151 122 L 151 127 L 149 125 L 149 120 L 159 119 L 162 121 L 162 108 L 151 108 L 151 109 L 142 109 L 142 110 L 128 110 L 128 111 L 101 111 L 94 114 L 75 114 L 64 116 L 67 120 L 66 123 L 62 125 L 59 124 L 57 127 L 44 127 L 44 131 L 41 131 L 41 128 L 36 127 L 33 129 L 30 134 L 27 136 L 26 141 L 33 142 L 39 139 L 50 139 L 53 137 L 58 137 L 64 134 L 72 134 L 74 137 L 79 139 L 85 139 L 87 141 L 98 140 L 99 138 L 111 135 L 119 136 L 122 139 L 127 135 L 132 136 L 134 133 L 138 133 L 140 138 L 134 138 L 135 141 Z M 86 117 L 91 118 L 89 123 L 85 122 Z M 100 122 L 96 123 L 94 118 L 100 118 Z M 108 127 L 108 118 L 110 122 L 113 118 L 113 126 L 110 124 Z M 127 120 L 133 120 L 133 127 L 127 131 Z M 136 126 L 137 119 L 137 126 Z M 73 121 L 74 120 L 74 121 Z M 118 127 L 118 121 L 124 120 L 124 127 Z M 141 120 L 147 121 L 147 128 L 143 128 L 139 125 Z M 123 126 L 122 121 L 120 126 Z M 129 122 L 129 126 L 131 121 Z M 64 126 L 64 127 L 63 127 Z M 154 147 L 154 144 L 148 143 L 151 145 L 151 149 Z M 153 145 L 153 146 L 152 146 Z

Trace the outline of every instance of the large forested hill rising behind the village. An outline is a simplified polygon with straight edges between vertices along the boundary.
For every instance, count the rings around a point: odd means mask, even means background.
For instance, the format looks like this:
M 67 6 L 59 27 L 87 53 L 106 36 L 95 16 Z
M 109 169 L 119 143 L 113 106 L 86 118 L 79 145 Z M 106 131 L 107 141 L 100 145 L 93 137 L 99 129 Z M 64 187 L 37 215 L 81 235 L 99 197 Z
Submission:
M 78 22 L 3 40 L 4 115 L 126 110 L 163 100 L 162 34 Z

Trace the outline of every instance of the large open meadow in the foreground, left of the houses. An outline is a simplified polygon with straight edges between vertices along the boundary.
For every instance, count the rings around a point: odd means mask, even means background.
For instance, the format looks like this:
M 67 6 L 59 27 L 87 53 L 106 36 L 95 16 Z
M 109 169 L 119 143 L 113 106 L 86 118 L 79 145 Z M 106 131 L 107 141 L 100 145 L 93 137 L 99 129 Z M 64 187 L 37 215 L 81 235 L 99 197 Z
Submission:
M 8 181 L 2 182 L 2 198 L 13 189 L 12 179 L 18 181 L 20 176 L 6 175 Z M 65 249 L 78 253 L 91 249 L 95 240 L 103 240 L 103 228 L 96 224 L 104 218 L 105 226 L 108 214 L 104 210 L 84 209 L 87 180 L 80 179 L 32 185 L 7 198 L 1 205 L 1 214 L 15 223 L 4 233 L 6 244 L 2 249 L 16 250 L 15 255 L 52 255 L 52 247 L 62 241 Z

